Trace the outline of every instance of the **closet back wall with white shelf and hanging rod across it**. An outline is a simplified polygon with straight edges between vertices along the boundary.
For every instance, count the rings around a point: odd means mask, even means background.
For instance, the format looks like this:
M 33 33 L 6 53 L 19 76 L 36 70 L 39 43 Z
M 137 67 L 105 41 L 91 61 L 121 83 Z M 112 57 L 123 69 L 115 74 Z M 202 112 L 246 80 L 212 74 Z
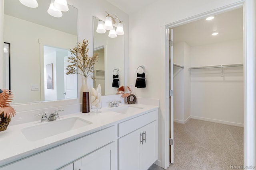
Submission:
M 243 40 L 191 47 L 191 66 L 243 63 Z M 191 70 L 191 117 L 243 126 L 243 67 Z

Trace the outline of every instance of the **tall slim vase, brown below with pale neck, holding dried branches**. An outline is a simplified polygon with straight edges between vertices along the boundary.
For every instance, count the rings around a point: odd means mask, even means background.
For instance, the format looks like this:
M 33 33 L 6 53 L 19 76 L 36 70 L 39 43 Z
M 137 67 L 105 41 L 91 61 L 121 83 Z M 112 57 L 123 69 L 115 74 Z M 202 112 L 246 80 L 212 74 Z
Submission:
M 90 94 L 87 85 L 87 77 L 83 78 L 82 93 L 82 113 L 88 113 L 90 112 Z

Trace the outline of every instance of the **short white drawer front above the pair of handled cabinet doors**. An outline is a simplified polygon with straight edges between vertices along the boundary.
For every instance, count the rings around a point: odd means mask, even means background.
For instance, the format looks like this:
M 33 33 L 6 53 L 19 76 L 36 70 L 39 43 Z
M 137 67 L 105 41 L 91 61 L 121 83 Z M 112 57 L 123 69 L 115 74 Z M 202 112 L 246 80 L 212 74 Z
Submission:
M 118 123 L 118 137 L 122 137 L 148 123 L 157 120 L 157 110 L 150 111 L 144 115 Z

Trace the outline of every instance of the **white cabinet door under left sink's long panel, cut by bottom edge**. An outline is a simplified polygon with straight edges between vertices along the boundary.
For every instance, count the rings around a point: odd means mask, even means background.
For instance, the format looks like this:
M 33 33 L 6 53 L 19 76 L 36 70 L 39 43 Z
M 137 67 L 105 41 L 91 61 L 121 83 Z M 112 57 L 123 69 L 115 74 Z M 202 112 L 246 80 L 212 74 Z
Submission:
M 74 161 L 74 170 L 111 170 L 110 161 L 111 144 Z

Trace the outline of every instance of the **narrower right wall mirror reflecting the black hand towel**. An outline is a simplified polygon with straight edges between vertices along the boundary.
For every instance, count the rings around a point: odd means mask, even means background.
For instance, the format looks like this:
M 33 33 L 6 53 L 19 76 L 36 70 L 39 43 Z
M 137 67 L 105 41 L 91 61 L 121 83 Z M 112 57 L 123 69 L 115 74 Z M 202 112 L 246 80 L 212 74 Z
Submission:
M 100 84 L 102 95 L 116 94 L 124 86 L 124 35 L 110 38 L 108 31 L 97 33 L 98 21 L 93 17 L 94 53 L 99 57 L 94 64 L 94 88 Z

